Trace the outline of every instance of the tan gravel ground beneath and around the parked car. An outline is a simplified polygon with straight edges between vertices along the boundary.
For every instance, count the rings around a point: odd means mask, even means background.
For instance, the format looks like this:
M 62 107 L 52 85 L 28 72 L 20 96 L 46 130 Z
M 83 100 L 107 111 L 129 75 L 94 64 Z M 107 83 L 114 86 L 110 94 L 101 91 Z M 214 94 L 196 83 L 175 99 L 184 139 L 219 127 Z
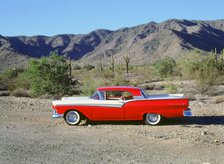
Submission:
M 224 103 L 192 118 L 68 126 L 51 101 L 0 97 L 0 163 L 224 163 Z

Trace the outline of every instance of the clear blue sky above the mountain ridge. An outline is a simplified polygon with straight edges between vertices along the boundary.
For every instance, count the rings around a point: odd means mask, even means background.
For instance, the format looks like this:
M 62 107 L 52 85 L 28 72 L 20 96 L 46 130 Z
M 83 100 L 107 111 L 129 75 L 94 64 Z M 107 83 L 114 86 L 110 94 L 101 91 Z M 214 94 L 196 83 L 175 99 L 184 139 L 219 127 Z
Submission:
M 0 0 L 0 35 L 86 34 L 168 19 L 224 19 L 224 0 Z

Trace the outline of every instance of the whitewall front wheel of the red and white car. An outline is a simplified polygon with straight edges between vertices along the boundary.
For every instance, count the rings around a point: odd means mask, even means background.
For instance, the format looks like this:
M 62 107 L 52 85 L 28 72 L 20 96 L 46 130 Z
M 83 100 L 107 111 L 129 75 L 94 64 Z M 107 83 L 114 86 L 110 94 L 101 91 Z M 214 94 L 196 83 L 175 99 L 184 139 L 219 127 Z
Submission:
M 81 115 L 74 110 L 70 110 L 65 114 L 65 122 L 69 125 L 78 125 L 81 121 Z

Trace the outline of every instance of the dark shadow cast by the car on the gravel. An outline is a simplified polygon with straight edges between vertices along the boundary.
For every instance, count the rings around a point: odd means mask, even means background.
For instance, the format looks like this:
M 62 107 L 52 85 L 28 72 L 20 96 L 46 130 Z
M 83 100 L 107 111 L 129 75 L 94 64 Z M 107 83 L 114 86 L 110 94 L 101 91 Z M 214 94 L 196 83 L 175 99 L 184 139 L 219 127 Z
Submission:
M 144 121 L 94 121 L 86 125 L 144 125 Z M 224 125 L 224 116 L 193 116 L 164 119 L 159 126 L 169 125 Z

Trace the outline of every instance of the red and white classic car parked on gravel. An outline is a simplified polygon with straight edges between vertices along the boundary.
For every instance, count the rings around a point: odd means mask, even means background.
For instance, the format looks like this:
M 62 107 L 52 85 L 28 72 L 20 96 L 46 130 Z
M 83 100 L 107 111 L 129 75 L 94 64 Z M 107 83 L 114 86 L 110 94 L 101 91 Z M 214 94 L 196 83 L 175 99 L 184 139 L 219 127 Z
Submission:
M 97 88 L 90 97 L 64 97 L 53 101 L 53 118 L 62 117 L 69 125 L 90 121 L 144 120 L 157 125 L 162 118 L 192 116 L 183 94 L 148 95 L 132 86 Z

